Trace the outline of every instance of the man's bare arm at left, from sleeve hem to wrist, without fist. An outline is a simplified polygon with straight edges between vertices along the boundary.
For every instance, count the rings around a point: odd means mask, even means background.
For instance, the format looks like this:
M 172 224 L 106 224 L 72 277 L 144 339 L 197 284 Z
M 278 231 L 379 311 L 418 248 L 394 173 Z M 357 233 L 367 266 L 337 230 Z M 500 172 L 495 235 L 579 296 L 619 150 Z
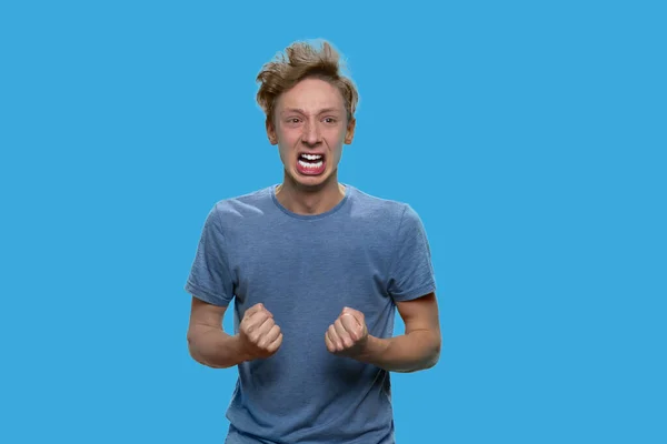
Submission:
M 227 306 L 218 306 L 192 297 L 188 350 L 200 364 L 213 369 L 227 369 L 247 361 L 238 336 L 222 330 Z

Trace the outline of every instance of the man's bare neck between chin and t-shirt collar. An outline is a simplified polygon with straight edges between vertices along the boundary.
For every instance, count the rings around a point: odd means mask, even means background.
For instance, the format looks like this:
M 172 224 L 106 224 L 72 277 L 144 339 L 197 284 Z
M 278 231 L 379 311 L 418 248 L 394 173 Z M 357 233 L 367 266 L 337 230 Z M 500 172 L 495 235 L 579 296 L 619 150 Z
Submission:
M 332 210 L 345 198 L 345 192 L 336 175 L 318 186 L 302 186 L 286 173 L 276 189 L 276 199 L 292 213 L 315 215 Z

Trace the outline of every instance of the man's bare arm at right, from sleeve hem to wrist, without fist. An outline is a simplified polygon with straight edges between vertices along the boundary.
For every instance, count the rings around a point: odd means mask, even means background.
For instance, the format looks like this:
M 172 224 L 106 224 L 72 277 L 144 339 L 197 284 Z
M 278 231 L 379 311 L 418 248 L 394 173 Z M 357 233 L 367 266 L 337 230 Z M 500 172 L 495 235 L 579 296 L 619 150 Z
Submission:
M 402 335 L 368 336 L 360 361 L 388 371 L 410 373 L 435 366 L 440 359 L 440 321 L 435 293 L 396 303 L 406 324 Z

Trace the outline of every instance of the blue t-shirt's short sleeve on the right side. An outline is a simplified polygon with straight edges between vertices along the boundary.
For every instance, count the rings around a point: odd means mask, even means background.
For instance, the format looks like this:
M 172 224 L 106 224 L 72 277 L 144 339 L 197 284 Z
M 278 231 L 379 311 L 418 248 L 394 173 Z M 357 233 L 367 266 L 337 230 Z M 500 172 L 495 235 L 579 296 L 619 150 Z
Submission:
M 426 230 L 417 212 L 406 204 L 389 268 L 388 292 L 395 301 L 409 301 L 436 291 Z

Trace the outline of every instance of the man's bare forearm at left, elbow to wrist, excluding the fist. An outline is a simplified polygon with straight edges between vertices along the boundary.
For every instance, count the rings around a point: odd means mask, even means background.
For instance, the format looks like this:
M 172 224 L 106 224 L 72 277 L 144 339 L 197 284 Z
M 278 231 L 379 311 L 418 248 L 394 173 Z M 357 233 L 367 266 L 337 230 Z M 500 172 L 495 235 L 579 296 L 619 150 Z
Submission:
M 196 329 L 188 335 L 188 349 L 195 361 L 213 369 L 228 369 L 249 359 L 238 335 L 215 327 Z

